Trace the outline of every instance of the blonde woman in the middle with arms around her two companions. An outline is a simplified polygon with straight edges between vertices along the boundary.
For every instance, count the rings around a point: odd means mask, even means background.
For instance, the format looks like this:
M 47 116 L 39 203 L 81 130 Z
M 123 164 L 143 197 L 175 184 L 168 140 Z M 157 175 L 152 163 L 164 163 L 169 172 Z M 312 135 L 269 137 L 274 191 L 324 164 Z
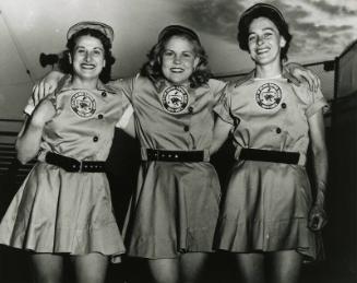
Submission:
M 225 83 L 210 76 L 197 33 L 170 25 L 140 74 L 110 83 L 129 97 L 141 144 L 127 253 L 143 258 L 156 283 L 198 282 L 213 251 L 221 189 L 210 148 Z

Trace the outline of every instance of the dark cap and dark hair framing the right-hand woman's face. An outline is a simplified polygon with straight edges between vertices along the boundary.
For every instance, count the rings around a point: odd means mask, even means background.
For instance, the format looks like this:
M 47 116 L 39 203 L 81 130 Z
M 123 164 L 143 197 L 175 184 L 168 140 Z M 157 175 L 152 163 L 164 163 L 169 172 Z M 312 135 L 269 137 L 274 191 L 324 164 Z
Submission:
M 248 34 L 250 23 L 254 19 L 260 16 L 264 16 L 271 20 L 276 25 L 277 30 L 284 36 L 286 42 L 289 42 L 291 39 L 291 35 L 288 32 L 288 25 L 282 12 L 274 5 L 266 3 L 258 3 L 247 9 L 240 16 L 238 23 L 237 39 L 239 43 L 239 47 L 242 50 L 248 50 Z

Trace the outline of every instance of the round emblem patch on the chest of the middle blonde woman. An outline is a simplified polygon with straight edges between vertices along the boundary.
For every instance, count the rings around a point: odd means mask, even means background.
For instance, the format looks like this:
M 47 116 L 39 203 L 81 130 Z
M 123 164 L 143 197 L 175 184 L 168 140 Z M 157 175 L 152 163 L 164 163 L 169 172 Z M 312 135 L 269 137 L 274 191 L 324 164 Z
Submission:
M 167 87 L 162 94 L 164 109 L 171 114 L 180 114 L 189 104 L 189 94 L 185 87 L 174 85 Z

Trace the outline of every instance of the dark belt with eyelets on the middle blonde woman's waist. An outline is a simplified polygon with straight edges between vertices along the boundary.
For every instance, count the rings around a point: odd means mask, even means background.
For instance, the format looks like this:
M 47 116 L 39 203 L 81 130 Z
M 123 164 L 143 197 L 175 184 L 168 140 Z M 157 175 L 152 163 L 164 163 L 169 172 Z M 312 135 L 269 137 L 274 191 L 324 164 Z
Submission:
M 203 151 L 160 151 L 146 149 L 147 161 L 203 162 Z

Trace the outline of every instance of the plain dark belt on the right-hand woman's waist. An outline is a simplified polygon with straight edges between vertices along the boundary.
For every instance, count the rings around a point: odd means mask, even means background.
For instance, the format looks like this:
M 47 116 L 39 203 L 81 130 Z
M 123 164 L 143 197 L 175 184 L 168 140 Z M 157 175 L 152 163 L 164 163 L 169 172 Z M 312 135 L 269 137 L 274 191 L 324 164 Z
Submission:
M 263 161 L 286 164 L 298 164 L 300 154 L 298 152 L 281 152 L 254 149 L 242 149 L 239 158 L 246 161 Z

